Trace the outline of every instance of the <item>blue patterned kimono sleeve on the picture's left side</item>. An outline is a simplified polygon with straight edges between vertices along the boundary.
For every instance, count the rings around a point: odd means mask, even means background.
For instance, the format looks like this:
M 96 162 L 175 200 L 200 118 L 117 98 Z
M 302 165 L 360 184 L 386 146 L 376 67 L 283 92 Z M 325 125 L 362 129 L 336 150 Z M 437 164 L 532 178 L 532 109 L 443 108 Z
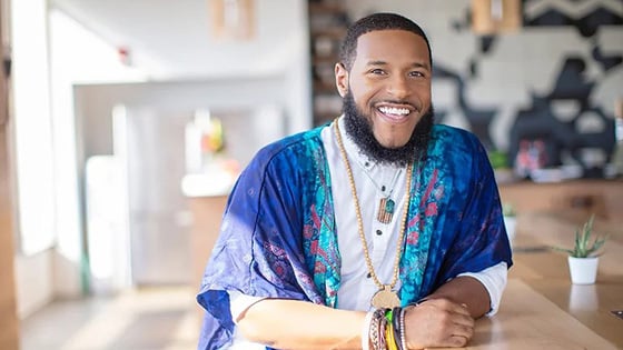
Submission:
M 301 253 L 299 174 L 283 149 L 264 149 L 240 174 L 227 203 L 220 234 L 197 301 L 206 309 L 199 349 L 231 341 L 227 291 L 309 300 L 312 283 Z

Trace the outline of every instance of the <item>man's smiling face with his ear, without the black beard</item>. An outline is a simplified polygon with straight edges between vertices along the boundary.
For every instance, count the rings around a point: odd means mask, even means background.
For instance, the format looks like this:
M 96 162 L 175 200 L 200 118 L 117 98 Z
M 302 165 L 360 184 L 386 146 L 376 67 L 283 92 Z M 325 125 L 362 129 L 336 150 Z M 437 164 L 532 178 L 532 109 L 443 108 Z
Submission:
M 405 146 L 431 109 L 432 68 L 424 39 L 405 30 L 360 36 L 350 71 L 336 66 L 336 83 L 348 92 L 385 148 Z

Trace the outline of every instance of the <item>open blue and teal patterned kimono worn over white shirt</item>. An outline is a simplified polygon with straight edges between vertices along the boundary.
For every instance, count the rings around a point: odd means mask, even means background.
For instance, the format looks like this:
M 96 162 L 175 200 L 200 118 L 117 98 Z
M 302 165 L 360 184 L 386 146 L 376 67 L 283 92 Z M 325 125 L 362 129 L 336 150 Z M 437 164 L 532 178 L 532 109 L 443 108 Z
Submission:
M 340 256 L 320 139 L 326 127 L 265 147 L 240 174 L 197 296 L 207 310 L 199 349 L 231 341 L 228 290 L 336 307 Z M 436 124 L 425 161 L 413 167 L 399 269 L 403 304 L 462 272 L 502 261 L 511 267 L 498 191 L 479 141 Z

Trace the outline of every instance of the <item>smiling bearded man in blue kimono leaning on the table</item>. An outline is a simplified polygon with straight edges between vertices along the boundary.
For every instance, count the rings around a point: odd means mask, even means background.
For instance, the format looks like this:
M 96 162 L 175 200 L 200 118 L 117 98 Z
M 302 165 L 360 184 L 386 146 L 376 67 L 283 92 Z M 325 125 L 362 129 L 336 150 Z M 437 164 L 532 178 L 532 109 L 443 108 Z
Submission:
M 463 347 L 496 311 L 512 264 L 497 187 L 472 133 L 434 124 L 432 71 L 411 20 L 348 29 L 344 114 L 260 150 L 233 190 L 200 349 Z

